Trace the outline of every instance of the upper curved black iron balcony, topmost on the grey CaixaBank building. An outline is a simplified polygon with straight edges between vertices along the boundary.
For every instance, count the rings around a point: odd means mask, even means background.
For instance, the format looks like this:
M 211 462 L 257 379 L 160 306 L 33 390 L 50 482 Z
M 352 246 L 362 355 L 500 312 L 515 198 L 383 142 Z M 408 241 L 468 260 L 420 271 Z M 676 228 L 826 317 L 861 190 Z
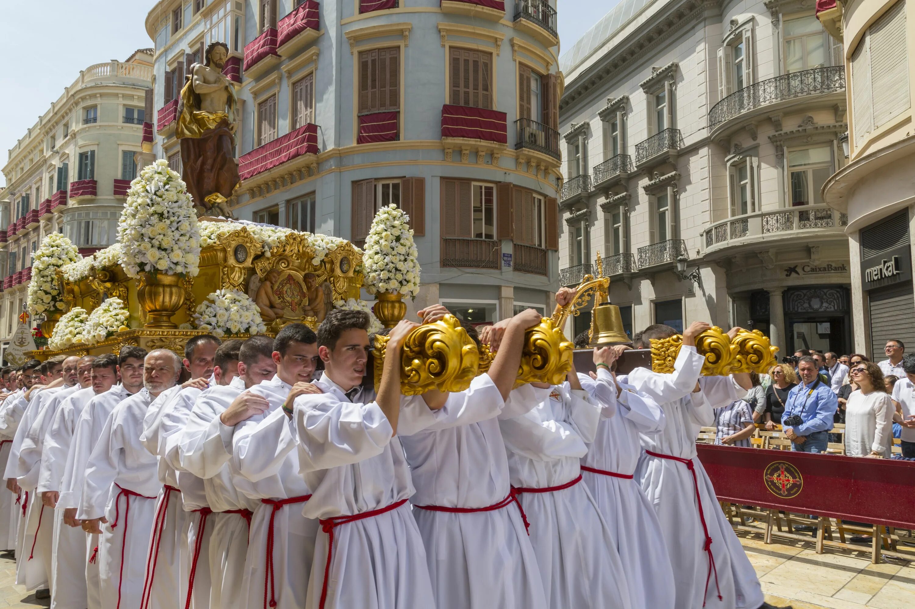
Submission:
M 774 79 L 760 80 L 734 91 L 708 112 L 709 129 L 744 112 L 805 95 L 845 91 L 845 66 L 804 69 Z

